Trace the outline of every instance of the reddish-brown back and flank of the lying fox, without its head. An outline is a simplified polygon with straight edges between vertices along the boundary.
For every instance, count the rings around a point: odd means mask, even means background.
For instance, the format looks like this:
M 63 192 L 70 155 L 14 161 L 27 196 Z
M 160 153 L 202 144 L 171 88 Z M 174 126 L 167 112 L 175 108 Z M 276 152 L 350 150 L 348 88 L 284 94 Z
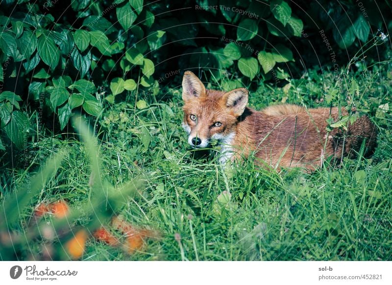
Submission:
M 342 109 L 343 114 L 346 111 Z M 304 109 L 295 105 L 280 105 L 267 110 L 245 109 L 240 118 L 239 147 L 256 151 L 256 156 L 274 166 L 302 166 L 313 168 L 328 156 L 340 157 L 358 151 L 363 139 L 368 151 L 375 147 L 376 131 L 368 117 L 357 119 L 343 133 L 334 129 L 327 133 L 327 119 L 339 118 L 339 109 Z M 344 143 L 344 146 L 343 146 Z

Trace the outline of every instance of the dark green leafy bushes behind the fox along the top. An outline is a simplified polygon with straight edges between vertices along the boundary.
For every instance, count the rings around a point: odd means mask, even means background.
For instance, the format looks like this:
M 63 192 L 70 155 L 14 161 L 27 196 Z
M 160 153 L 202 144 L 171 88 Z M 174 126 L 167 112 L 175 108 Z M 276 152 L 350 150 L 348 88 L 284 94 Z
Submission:
M 356 39 L 365 43 L 371 27 L 382 28 L 370 17 L 374 12 L 368 1 L 361 6 L 312 2 L 308 14 L 308 2 L 300 1 L 302 9 L 297 9 L 284 0 L 186 1 L 184 9 L 183 1 L 67 3 L 10 0 L 0 5 L 0 64 L 6 69 L 0 92 L 21 96 L 22 112 L 44 108 L 48 116 L 40 119 L 56 121 L 54 132 L 64 130 L 75 113 L 98 116 L 104 104 L 124 95 L 132 100 L 144 90 L 157 90 L 163 83 L 158 79 L 165 78 L 161 74 L 169 71 L 210 68 L 216 79 L 222 76 L 218 70 L 227 70 L 244 75 L 239 80 L 245 85 L 271 78 L 277 82 L 287 78 L 287 67 L 297 65 L 298 50 L 309 48 L 303 40 L 320 40 L 320 29 L 333 34 L 332 46 L 347 49 L 361 45 Z M 80 79 L 96 90 L 73 88 Z M 27 120 L 8 120 L 13 110 L 0 104 L 2 134 L 8 123 L 14 124 L 12 129 L 23 134 L 8 138 L 23 148 Z

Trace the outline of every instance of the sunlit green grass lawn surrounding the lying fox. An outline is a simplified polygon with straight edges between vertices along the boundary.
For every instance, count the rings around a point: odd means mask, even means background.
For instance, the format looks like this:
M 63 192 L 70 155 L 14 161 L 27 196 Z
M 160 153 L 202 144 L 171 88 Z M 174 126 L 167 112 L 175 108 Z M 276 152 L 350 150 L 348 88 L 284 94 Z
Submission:
M 359 154 L 356 160 L 344 159 L 340 166 L 327 165 L 314 173 L 260 169 L 251 158 L 223 169 L 214 158 L 194 157 L 181 128 L 179 90 L 161 90 L 172 96 L 165 102 L 146 96 L 148 108 L 136 112 L 134 104 L 108 106 L 98 129 L 101 177 L 115 187 L 143 177 L 144 187 L 121 198 L 120 213 L 134 225 L 158 230 L 162 237 L 149 239 L 133 255 L 90 239 L 82 259 L 391 260 L 392 113 L 378 108 L 388 103 L 392 91 L 388 73 L 391 66 L 384 64 L 367 76 L 354 75 L 360 90 L 356 105 L 379 129 L 375 154 L 370 159 Z M 312 74 L 292 80 L 287 93 L 262 85 L 251 93 L 250 104 L 325 106 L 320 99 L 333 84 L 333 75 Z M 350 78 L 343 86 L 349 89 Z M 342 94 L 340 100 L 344 99 Z M 41 138 L 31 145 L 38 155 L 27 171 L 37 169 L 60 146 L 67 146 L 68 155 L 24 209 L 27 216 L 42 201 L 62 198 L 79 210 L 88 201 L 91 167 L 84 144 L 76 139 Z M 12 176 L 3 176 L 2 191 L 21 185 L 27 171 L 8 170 Z M 81 215 L 78 224 L 84 223 L 87 219 Z M 38 249 L 31 250 L 20 258 L 39 256 Z

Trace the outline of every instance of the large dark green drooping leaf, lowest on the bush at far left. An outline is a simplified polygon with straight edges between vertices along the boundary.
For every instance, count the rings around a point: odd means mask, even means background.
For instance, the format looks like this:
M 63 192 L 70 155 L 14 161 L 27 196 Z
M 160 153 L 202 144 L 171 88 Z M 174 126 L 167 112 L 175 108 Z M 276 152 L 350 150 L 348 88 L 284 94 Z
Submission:
M 5 126 L 5 133 L 17 148 L 22 149 L 28 128 L 29 121 L 27 116 L 20 111 L 14 111 L 12 112 L 10 122 Z

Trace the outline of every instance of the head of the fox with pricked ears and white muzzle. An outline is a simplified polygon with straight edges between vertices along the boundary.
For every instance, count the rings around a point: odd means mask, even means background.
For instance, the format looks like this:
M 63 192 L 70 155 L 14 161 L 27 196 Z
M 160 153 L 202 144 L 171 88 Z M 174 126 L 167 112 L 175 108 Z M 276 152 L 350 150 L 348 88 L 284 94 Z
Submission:
M 230 143 L 234 138 L 238 118 L 248 102 L 248 91 L 245 88 L 229 92 L 207 90 L 193 72 L 185 71 L 182 99 L 188 143 L 193 147 L 207 147 L 211 139 Z

